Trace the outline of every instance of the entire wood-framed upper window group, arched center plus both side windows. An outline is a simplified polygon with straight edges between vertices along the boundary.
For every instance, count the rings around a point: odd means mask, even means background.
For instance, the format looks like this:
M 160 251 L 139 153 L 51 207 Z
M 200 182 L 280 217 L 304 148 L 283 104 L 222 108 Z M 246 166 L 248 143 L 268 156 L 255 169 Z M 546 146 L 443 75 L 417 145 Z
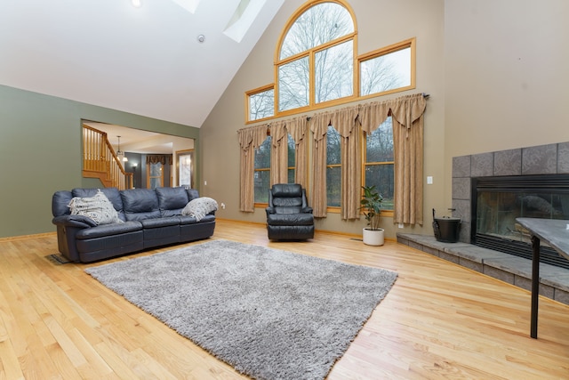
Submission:
M 276 44 L 276 82 L 245 93 L 245 122 L 413 89 L 414 57 L 414 38 L 357 55 L 349 4 L 309 2 L 288 20 Z

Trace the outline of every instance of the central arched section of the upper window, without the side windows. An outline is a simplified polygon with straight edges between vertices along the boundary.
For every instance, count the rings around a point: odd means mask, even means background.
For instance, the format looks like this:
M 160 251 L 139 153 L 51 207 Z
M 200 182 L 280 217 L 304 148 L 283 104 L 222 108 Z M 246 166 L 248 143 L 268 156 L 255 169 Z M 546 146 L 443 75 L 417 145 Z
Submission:
M 276 112 L 353 96 L 356 32 L 349 9 L 317 2 L 291 20 L 276 54 Z

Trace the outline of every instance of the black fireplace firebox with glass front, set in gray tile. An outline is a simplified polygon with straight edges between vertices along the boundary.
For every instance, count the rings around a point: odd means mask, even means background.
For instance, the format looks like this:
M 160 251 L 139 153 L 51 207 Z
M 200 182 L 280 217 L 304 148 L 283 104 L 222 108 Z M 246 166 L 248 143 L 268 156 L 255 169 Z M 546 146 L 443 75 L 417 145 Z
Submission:
M 517 217 L 569 219 L 569 174 L 471 178 L 471 236 L 479 247 L 532 257 L 530 234 Z M 541 262 L 569 269 L 569 260 L 547 246 Z

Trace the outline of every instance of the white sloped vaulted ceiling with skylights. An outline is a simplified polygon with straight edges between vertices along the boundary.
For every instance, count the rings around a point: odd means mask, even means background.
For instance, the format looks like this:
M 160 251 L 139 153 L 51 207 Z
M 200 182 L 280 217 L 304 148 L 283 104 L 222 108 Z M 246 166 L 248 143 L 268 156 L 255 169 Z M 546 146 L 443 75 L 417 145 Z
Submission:
M 0 2 L 0 85 L 199 127 L 284 3 L 140 1 Z

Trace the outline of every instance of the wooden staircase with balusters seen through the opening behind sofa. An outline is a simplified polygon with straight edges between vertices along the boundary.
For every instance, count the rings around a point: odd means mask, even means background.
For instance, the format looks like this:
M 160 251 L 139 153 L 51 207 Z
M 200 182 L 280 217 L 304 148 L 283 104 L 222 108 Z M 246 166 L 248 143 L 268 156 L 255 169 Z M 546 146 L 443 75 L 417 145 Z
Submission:
M 83 125 L 83 176 L 99 178 L 106 188 L 132 189 L 132 173 L 124 171 L 107 133 Z

